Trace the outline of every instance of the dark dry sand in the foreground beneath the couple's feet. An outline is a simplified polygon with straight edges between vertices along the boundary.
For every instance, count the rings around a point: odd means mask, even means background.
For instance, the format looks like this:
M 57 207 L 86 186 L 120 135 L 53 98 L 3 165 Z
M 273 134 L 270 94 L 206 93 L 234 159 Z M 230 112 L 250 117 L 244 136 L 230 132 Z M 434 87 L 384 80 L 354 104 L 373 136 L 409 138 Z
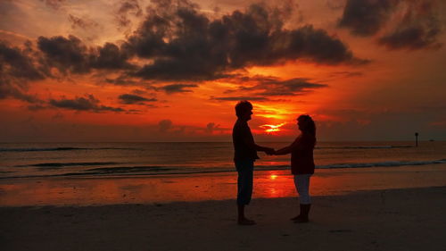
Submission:
M 257 198 L 235 224 L 234 200 L 101 206 L 0 207 L 0 250 L 446 250 L 446 187 Z

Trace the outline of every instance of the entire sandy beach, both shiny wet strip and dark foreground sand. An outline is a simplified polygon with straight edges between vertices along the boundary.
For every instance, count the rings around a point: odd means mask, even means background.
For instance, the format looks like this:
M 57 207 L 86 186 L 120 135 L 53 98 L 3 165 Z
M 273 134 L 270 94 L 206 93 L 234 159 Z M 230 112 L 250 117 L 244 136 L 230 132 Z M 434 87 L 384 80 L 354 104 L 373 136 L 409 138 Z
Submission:
M 289 173 L 256 172 L 255 226 L 235 224 L 234 172 L 0 180 L 0 249 L 444 250 L 445 172 L 320 171 L 307 224 L 288 220 L 298 210 Z

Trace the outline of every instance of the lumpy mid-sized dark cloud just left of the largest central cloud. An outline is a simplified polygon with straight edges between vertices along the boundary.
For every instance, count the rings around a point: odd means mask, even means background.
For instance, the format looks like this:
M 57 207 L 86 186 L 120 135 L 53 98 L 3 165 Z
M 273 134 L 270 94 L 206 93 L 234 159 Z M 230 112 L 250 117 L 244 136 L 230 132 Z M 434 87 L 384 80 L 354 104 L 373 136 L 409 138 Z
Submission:
M 37 46 L 45 54 L 45 62 L 63 73 L 88 73 L 92 69 L 117 70 L 133 67 L 128 63 L 128 54 L 111 43 L 88 48 L 79 38 L 58 36 L 39 37 Z

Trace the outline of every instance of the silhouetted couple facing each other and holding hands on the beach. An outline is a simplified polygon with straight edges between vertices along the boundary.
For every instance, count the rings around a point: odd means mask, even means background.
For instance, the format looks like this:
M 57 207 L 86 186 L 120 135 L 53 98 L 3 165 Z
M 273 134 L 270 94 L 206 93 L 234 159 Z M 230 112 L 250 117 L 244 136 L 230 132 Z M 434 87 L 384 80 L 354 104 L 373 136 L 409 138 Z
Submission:
M 292 218 L 294 222 L 308 222 L 310 212 L 310 177 L 314 173 L 313 149 L 316 145 L 316 125 L 309 115 L 301 115 L 297 118 L 297 125 L 301 135 L 290 146 L 279 150 L 270 147 L 259 146 L 254 142 L 248 121 L 251 120 L 252 104 L 241 101 L 235 105 L 235 121 L 232 138 L 235 148 L 235 168 L 238 172 L 237 180 L 237 209 L 239 225 L 254 225 L 255 222 L 244 216 L 244 206 L 248 205 L 252 197 L 252 179 L 254 162 L 259 159 L 258 151 L 267 155 L 291 154 L 291 172 L 294 176 L 294 184 L 299 194 L 301 212 Z

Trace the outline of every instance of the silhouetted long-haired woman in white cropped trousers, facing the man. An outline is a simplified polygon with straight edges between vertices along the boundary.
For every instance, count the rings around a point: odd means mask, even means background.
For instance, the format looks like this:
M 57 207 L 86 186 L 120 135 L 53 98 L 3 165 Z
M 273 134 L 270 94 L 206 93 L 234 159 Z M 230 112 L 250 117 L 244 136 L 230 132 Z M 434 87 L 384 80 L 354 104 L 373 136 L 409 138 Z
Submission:
M 297 125 L 301 135 L 293 144 L 276 151 L 276 155 L 291 153 L 291 172 L 294 175 L 294 184 L 299 194 L 301 213 L 294 217 L 294 222 L 308 222 L 310 213 L 310 177 L 314 173 L 313 149 L 316 145 L 316 125 L 310 115 L 301 115 L 297 118 Z

